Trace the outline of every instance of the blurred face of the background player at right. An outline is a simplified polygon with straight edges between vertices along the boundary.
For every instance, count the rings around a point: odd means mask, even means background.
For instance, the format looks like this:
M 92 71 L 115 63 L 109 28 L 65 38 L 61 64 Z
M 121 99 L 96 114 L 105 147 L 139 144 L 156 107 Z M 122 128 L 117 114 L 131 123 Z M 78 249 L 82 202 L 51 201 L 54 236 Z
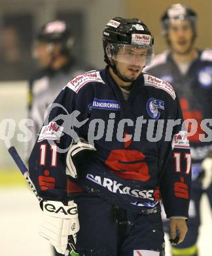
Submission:
M 175 20 L 170 23 L 168 40 L 172 51 L 186 54 L 192 49 L 194 32 L 188 20 Z

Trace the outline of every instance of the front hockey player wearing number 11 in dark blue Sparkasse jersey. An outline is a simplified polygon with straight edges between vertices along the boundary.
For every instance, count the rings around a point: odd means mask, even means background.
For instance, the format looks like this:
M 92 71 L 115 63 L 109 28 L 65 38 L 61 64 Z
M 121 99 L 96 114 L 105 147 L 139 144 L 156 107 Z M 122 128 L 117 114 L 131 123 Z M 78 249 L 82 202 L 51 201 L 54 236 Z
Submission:
M 77 234 L 79 255 L 162 256 L 160 195 L 173 243 L 187 231 L 191 160 L 181 108 L 171 85 L 142 73 L 154 55 L 143 22 L 110 20 L 103 49 L 106 68 L 67 83 L 29 158 L 43 198 L 41 236 L 60 253 Z

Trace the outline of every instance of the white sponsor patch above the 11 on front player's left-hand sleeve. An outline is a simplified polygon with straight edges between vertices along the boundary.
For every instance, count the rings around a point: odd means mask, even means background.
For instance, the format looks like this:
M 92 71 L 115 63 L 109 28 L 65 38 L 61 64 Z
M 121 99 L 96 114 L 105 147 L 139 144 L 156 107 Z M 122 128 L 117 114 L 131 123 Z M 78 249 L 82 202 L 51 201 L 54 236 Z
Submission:
M 62 126 L 57 125 L 56 122 L 50 122 L 48 125 L 42 127 L 39 139 L 37 141 L 40 142 L 42 140 L 56 140 L 56 142 L 60 142 L 62 131 Z

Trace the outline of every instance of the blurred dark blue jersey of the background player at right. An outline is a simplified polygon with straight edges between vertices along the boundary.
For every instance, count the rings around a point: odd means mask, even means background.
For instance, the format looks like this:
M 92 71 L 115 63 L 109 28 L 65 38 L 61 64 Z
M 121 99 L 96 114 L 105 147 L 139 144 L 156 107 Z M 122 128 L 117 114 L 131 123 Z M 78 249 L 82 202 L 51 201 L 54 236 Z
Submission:
M 152 66 L 145 71 L 165 79 L 173 85 L 183 110 L 184 119 L 195 119 L 195 123 L 188 126 L 193 131 L 188 137 L 192 156 L 192 180 L 196 181 L 202 171 L 202 160 L 212 150 L 212 133 L 206 119 L 211 119 L 212 102 L 212 50 L 198 51 L 196 58 L 185 74 L 181 74 L 179 67 L 173 61 L 169 52 L 158 54 Z M 203 120 L 207 123 L 203 129 Z M 207 138 L 200 141 L 200 136 Z

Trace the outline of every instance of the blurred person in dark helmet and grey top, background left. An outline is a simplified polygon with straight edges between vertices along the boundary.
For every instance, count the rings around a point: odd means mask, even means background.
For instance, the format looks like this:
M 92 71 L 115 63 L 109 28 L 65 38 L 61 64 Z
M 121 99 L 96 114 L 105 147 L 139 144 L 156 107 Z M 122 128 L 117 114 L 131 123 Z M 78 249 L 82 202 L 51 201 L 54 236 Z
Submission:
M 47 106 L 54 101 L 65 83 L 88 70 L 75 60 L 73 43 L 73 33 L 63 20 L 47 22 L 37 33 L 33 57 L 40 70 L 29 82 L 28 109 L 33 126 L 30 127 L 32 139 L 27 145 L 27 159 L 43 125 Z

